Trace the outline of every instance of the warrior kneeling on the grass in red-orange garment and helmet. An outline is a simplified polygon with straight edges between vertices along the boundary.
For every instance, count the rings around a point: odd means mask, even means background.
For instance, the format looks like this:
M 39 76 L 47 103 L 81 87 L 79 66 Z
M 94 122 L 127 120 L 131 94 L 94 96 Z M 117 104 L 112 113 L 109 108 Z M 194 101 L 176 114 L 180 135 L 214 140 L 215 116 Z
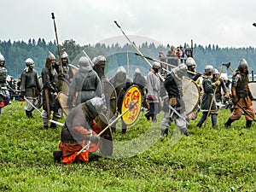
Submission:
M 101 129 L 96 124 L 96 117 L 103 107 L 102 98 L 94 97 L 79 104 L 68 113 L 61 130 L 61 151 L 54 152 L 55 160 L 61 160 L 66 165 L 78 161 L 89 161 L 89 152 L 95 152 L 100 146 L 97 134 Z M 90 145 L 88 143 L 90 142 Z M 79 151 L 87 146 L 83 152 Z

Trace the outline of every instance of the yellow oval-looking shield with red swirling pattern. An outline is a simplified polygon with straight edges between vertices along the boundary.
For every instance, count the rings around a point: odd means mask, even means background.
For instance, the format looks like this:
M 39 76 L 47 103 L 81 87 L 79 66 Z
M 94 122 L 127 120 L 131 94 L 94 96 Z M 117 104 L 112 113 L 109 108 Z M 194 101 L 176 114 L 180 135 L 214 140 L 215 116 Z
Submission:
M 132 125 L 136 122 L 142 108 L 143 96 L 141 90 L 137 85 L 132 85 L 125 92 L 125 96 L 122 102 L 121 113 L 124 113 L 127 108 L 130 107 L 131 103 L 137 103 L 131 110 L 122 116 L 125 125 Z

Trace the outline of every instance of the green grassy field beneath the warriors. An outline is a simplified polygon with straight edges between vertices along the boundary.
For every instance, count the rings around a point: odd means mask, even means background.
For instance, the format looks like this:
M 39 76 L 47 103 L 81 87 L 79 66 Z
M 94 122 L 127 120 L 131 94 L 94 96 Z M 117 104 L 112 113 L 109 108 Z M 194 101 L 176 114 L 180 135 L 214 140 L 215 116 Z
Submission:
M 0 191 L 256 191 L 256 125 L 246 129 L 242 117 L 225 128 L 228 110 L 219 111 L 218 128 L 212 129 L 210 118 L 206 127 L 196 128 L 197 119 L 190 122 L 190 136 L 176 142 L 170 135 L 157 137 L 130 158 L 92 154 L 88 163 L 65 166 L 52 155 L 61 127 L 42 130 L 39 113 L 26 119 L 24 105 L 13 102 L 0 116 Z M 148 127 L 142 115 L 125 135 L 117 130 L 113 139 L 129 141 Z M 140 148 L 137 144 L 127 153 Z

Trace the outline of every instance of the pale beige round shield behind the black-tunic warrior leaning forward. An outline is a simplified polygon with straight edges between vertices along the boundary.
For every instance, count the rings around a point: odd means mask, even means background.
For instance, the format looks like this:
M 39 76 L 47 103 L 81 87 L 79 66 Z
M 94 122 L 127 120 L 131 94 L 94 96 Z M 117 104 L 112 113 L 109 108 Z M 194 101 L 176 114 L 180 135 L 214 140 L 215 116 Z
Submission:
M 183 77 L 183 101 L 185 103 L 185 114 L 189 115 L 198 106 L 201 99 L 200 90 L 195 81 Z

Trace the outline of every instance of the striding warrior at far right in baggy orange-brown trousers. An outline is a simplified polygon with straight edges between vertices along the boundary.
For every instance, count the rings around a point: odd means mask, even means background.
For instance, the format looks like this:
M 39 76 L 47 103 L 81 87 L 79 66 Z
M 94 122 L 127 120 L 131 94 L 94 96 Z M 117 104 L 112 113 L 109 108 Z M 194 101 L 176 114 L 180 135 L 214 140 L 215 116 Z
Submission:
M 249 88 L 248 82 L 249 79 L 247 61 L 245 59 L 241 59 L 241 61 L 239 62 L 239 66 L 232 77 L 231 92 L 232 102 L 234 103 L 234 111 L 231 113 L 228 121 L 224 124 L 226 127 L 230 126 L 233 121 L 241 118 L 241 108 L 243 108 L 247 112 L 245 113 L 245 117 L 247 119 L 246 127 L 249 128 L 252 125 L 254 118 L 254 110 L 252 103 L 253 95 Z

